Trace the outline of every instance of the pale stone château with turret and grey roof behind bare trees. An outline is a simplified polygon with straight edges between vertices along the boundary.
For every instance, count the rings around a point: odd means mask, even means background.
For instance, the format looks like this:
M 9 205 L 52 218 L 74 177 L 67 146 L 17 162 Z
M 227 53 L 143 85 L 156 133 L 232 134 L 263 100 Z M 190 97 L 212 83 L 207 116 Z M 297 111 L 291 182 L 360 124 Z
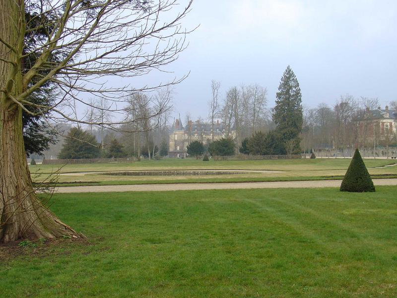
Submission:
M 236 131 L 232 128 L 229 133 L 226 132 L 226 127 L 217 120 L 214 123 L 212 131 L 212 125 L 209 122 L 202 121 L 189 121 L 186 126 L 183 126 L 181 118 L 175 119 L 170 133 L 170 149 L 169 157 L 184 158 L 186 157 L 186 150 L 188 145 L 193 141 L 200 141 L 203 144 L 209 144 L 213 140 L 219 140 L 226 138 L 226 134 L 229 137 L 234 138 Z

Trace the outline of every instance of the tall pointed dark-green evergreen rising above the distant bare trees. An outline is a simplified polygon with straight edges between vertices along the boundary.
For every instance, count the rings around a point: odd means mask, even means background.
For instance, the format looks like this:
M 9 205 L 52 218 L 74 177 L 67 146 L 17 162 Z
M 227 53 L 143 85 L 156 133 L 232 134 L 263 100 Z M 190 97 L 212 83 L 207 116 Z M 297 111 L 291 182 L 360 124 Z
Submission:
M 276 105 L 272 112 L 277 133 L 280 134 L 283 143 L 294 139 L 298 141 L 303 124 L 302 94 L 299 82 L 290 66 L 281 77 L 276 93 Z M 300 152 L 299 143 L 295 142 L 293 153 Z

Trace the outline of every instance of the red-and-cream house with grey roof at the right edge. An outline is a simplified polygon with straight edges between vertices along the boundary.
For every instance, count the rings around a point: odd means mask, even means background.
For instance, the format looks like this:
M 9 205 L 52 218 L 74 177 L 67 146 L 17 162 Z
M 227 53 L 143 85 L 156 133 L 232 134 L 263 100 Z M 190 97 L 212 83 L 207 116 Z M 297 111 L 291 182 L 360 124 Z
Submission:
M 357 118 L 358 139 L 363 143 L 375 140 L 391 141 L 397 134 L 397 111 L 378 107 L 375 110 L 366 110 Z

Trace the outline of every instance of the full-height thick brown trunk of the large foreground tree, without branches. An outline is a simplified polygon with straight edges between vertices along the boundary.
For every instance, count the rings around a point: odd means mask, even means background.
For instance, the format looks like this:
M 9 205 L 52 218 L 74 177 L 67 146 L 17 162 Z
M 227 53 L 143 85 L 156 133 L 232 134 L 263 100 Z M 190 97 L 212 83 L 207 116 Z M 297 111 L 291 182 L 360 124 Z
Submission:
M 22 13 L 19 13 L 18 5 Z M 19 55 L 22 53 L 24 7 L 21 0 L 0 1 L 0 243 L 21 238 L 76 236 L 37 198 L 26 162 L 22 135 L 22 108 L 12 97 L 22 92 Z

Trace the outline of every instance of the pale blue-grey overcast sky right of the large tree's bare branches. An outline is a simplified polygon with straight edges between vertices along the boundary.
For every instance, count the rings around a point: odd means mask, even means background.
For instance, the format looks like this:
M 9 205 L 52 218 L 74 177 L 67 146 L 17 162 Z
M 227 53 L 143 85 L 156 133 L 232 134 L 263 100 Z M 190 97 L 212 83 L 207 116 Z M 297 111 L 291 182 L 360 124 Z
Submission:
M 200 26 L 167 67 L 191 72 L 175 87 L 175 115 L 206 117 L 211 79 L 222 98 L 231 86 L 258 83 L 272 107 L 287 65 L 305 106 L 347 93 L 384 106 L 397 99 L 396 12 L 396 0 L 195 0 L 183 24 Z

